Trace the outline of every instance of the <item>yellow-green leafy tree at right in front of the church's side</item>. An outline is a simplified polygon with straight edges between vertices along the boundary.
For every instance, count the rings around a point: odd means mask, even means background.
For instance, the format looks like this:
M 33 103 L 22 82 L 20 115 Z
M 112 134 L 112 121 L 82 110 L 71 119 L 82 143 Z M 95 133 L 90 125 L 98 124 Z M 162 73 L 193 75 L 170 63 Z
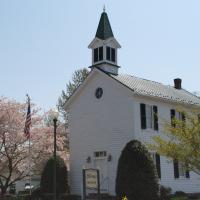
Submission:
M 200 174 L 200 115 L 199 110 L 187 112 L 177 109 L 181 119 L 164 122 L 164 136 L 154 137 L 149 147 L 159 154 L 178 160 L 185 169 Z

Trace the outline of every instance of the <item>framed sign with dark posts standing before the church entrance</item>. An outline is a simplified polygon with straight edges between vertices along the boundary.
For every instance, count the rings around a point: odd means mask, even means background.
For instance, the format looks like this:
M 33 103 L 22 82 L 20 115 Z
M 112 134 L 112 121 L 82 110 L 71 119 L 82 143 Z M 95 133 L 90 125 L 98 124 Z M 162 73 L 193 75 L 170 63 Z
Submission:
M 86 200 L 87 189 L 97 190 L 100 200 L 100 179 L 98 169 L 83 169 L 83 200 Z

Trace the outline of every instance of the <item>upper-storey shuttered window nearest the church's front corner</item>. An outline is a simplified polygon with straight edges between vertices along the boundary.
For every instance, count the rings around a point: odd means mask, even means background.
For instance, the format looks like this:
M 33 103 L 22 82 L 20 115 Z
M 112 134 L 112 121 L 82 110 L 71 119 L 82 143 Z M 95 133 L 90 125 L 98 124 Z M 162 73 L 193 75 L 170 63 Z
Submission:
M 151 106 L 141 103 L 140 104 L 140 118 L 141 128 L 151 128 L 158 130 L 158 108 L 157 106 Z

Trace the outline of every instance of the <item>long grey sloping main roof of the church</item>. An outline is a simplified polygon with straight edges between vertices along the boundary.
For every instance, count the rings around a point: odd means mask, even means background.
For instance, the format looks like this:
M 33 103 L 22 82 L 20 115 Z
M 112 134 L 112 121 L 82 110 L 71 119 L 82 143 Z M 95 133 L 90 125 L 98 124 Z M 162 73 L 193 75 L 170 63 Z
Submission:
M 133 90 L 136 94 L 157 97 L 173 102 L 200 106 L 200 99 L 185 89 L 175 89 L 169 85 L 141 79 L 131 75 L 111 75 L 114 79 Z

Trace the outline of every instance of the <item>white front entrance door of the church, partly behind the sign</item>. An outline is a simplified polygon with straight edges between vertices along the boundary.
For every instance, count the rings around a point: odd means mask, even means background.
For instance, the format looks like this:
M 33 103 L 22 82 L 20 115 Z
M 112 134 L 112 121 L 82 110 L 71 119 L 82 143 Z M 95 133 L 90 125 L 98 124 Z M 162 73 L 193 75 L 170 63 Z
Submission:
M 101 193 L 108 193 L 108 174 L 107 159 L 97 158 L 94 160 L 94 167 L 99 169 L 100 190 Z

